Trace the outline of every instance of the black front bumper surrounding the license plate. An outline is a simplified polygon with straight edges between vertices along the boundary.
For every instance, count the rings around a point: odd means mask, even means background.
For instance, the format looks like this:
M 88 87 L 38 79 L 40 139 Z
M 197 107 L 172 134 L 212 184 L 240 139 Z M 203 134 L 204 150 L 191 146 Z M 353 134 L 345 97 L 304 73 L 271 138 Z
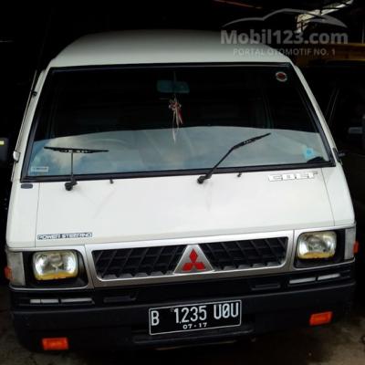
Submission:
M 340 270 L 341 276 L 334 280 L 292 286 L 289 281 L 297 276 L 285 274 L 72 293 L 13 289 L 12 313 L 18 339 L 28 349 L 39 350 L 42 338 L 58 337 L 68 337 L 70 349 L 131 349 L 214 342 L 308 326 L 312 313 L 333 311 L 334 319 L 343 316 L 349 310 L 355 283 L 352 266 Z M 331 272 L 333 269 L 316 270 L 316 275 Z M 39 298 L 44 303 L 39 303 Z M 57 304 L 47 301 L 56 298 Z M 79 304 L 77 300 L 69 300 L 72 298 L 90 301 Z M 240 327 L 149 335 L 149 308 L 234 299 L 243 303 Z

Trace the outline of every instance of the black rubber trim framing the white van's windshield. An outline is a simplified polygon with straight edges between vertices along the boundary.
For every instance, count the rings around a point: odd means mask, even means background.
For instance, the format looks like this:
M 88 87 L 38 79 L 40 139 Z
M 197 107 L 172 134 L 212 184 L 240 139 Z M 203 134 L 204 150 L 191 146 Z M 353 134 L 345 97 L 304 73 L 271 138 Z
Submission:
M 301 94 L 301 98 L 306 104 L 308 112 L 310 113 L 313 122 L 316 125 L 320 140 L 323 143 L 323 147 L 328 154 L 328 161 L 325 162 L 307 162 L 307 163 L 289 163 L 289 164 L 268 164 L 268 165 L 250 165 L 250 166 L 235 166 L 235 167 L 219 167 L 216 173 L 235 173 L 235 172 L 265 172 L 265 171 L 278 171 L 278 170 L 298 170 L 298 169 L 311 169 L 322 167 L 334 167 L 336 166 L 333 153 L 329 147 L 327 136 L 323 130 L 323 127 L 318 119 L 318 115 L 312 105 L 308 93 L 304 86 L 299 81 L 296 71 L 292 68 L 290 63 L 276 63 L 276 62 L 255 62 L 255 63 L 189 63 L 189 64 L 143 64 L 143 65 L 107 65 L 107 66 L 81 66 L 81 67 L 66 67 L 66 68 L 49 68 L 48 74 L 42 89 L 40 99 L 36 106 L 36 112 L 34 114 L 31 130 L 28 136 L 26 144 L 26 154 L 23 161 L 23 168 L 21 173 L 21 182 L 33 183 L 33 182 L 64 182 L 68 180 L 68 175 L 47 175 L 47 176 L 31 176 L 28 175 L 28 169 L 30 164 L 31 150 L 35 141 L 36 127 L 39 121 L 39 114 L 43 108 L 44 100 L 46 99 L 47 92 L 49 92 L 50 78 L 58 73 L 64 72 L 78 72 L 82 70 L 106 70 L 106 69 L 153 69 L 153 68 L 249 68 L 249 67 L 278 67 L 278 68 L 290 68 L 295 74 L 295 82 L 298 86 L 298 91 Z M 206 173 L 210 170 L 209 167 L 198 169 L 179 169 L 179 170 L 162 170 L 162 171 L 139 171 L 139 172 L 108 172 L 108 173 L 85 173 L 78 174 L 80 181 L 89 180 L 103 180 L 103 179 L 126 179 L 126 178 L 142 178 L 142 177 L 159 177 L 159 176 L 179 176 L 179 175 L 198 175 Z

